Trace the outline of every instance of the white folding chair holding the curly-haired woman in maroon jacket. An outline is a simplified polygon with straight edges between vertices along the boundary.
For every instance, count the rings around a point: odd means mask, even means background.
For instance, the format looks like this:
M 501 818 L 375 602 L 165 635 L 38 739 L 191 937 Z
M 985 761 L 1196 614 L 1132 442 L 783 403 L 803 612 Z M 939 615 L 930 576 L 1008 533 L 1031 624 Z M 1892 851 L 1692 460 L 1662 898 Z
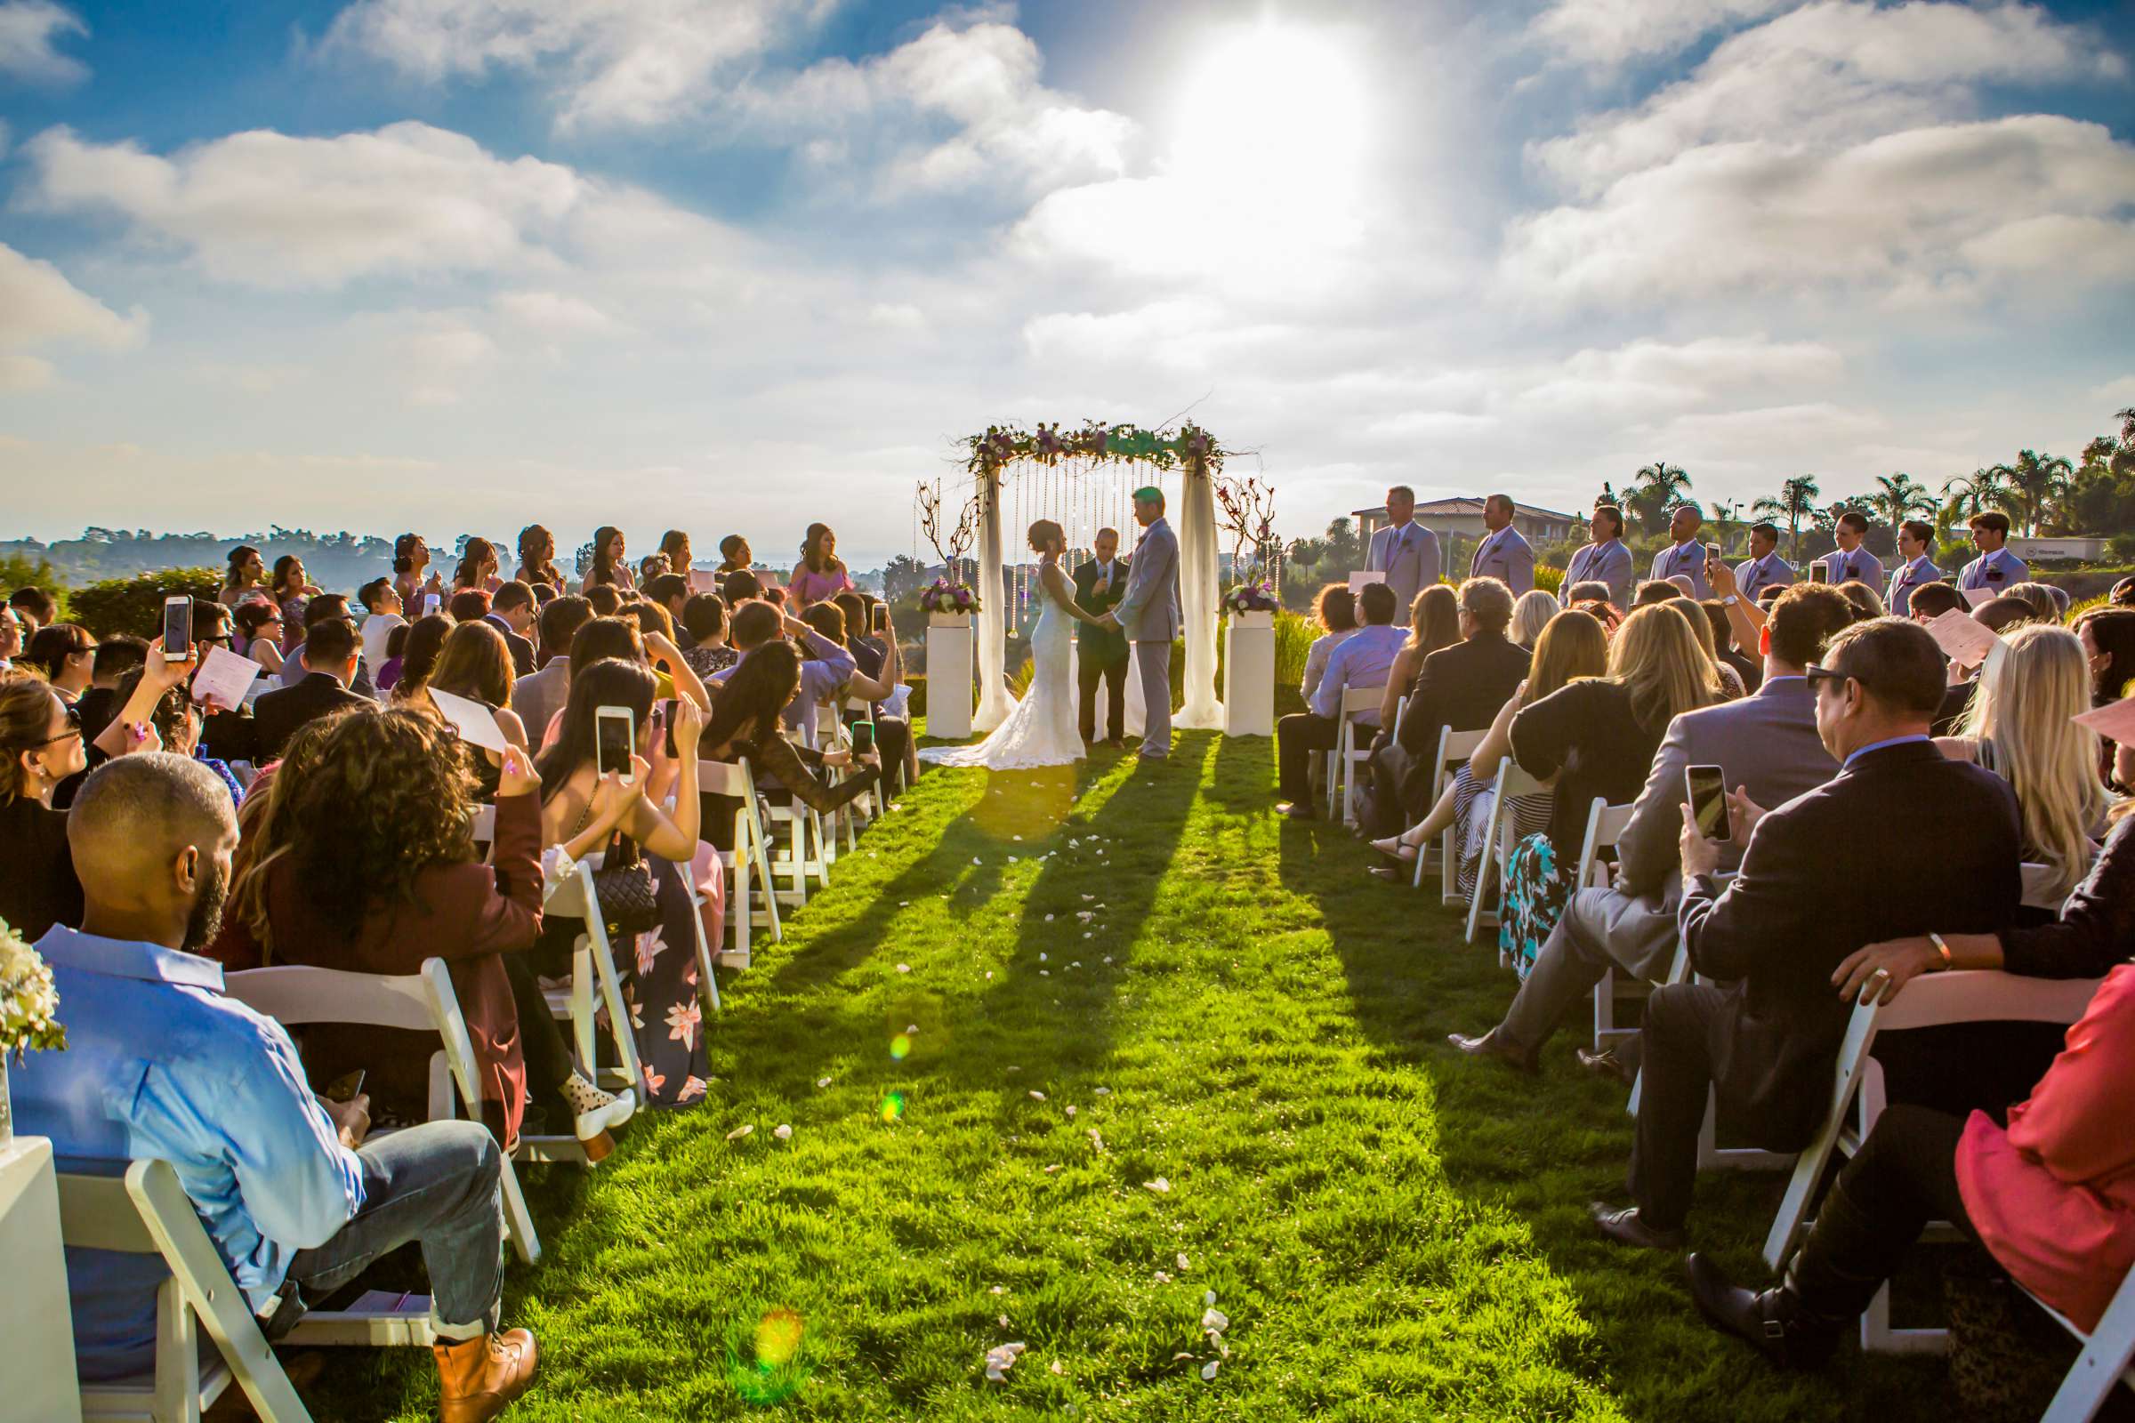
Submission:
M 418 973 L 406 975 L 271 964 L 222 975 L 222 992 L 284 1028 L 339 1022 L 436 1033 L 438 1052 L 429 1056 L 429 1120 L 446 1122 L 455 1116 L 455 1088 L 468 1120 L 483 1120 L 483 1088 L 474 1080 L 474 1039 L 468 1037 L 468 1020 L 459 1011 L 459 994 L 453 992 L 453 975 L 442 958 L 425 958 Z M 384 1129 L 371 1133 L 374 1139 L 384 1135 L 391 1133 Z M 549 1144 L 549 1152 L 534 1156 L 534 1141 Z M 555 1161 L 570 1152 L 585 1161 L 585 1148 L 576 1137 L 519 1137 L 521 1161 Z M 532 1265 L 540 1259 L 540 1235 L 534 1231 L 534 1214 L 527 1210 L 510 1156 L 504 1158 L 502 1178 L 504 1225 L 519 1259 Z

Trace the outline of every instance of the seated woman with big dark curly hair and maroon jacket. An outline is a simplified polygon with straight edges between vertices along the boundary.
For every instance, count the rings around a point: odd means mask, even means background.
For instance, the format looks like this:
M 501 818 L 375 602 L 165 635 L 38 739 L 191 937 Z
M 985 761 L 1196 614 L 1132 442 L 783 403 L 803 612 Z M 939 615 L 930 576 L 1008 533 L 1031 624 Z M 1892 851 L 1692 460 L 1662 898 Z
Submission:
M 504 755 L 489 864 L 468 838 L 474 781 L 436 721 L 359 708 L 303 732 L 269 789 L 254 853 L 233 902 L 258 962 L 410 975 L 446 960 L 468 1020 L 483 1120 L 519 1141 L 529 1099 L 572 1122 L 594 1158 L 630 1118 L 570 1062 L 527 949 L 540 934 L 540 781 L 523 751 Z M 429 1041 L 425 1041 L 429 1039 Z M 393 1028 L 305 1030 L 314 1082 L 365 1069 L 371 1097 L 421 1118 L 429 1035 Z

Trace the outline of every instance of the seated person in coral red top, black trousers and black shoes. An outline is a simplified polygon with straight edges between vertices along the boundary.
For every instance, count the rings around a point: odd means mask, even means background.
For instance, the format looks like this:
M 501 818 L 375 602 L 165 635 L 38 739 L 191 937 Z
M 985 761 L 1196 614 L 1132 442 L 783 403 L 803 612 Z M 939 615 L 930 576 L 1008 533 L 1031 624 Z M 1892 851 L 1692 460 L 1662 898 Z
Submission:
M 1832 1184 L 1776 1289 L 1736 1289 L 1702 1254 L 1691 1297 L 1766 1359 L 1813 1368 L 1838 1350 L 1930 1220 L 1956 1225 L 2026 1291 L 2094 1331 L 2135 1265 L 2135 966 L 2120 964 L 2007 1126 L 1887 1107 Z

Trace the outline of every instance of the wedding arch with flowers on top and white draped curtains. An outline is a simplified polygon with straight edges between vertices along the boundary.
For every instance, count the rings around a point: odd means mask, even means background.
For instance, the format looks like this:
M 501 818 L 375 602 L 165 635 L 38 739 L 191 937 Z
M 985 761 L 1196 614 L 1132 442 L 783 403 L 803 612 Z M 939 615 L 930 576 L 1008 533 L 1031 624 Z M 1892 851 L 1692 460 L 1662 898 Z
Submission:
M 1166 510 L 1179 535 L 1179 610 L 1185 617 L 1185 706 L 1172 725 L 1219 730 L 1223 704 L 1215 693 L 1217 625 L 1217 523 L 1215 478 L 1223 469 L 1223 448 L 1198 425 L 1151 431 L 1136 425 L 1085 425 L 1063 431 L 1040 425 L 1025 431 L 986 427 L 965 439 L 965 469 L 978 506 L 978 710 L 971 730 L 986 734 L 1001 725 L 1016 700 L 1008 691 L 1008 608 L 1031 597 L 1025 561 L 1018 578 L 1006 582 L 1001 521 L 1014 518 L 1014 538 L 1038 518 L 1053 518 L 1068 533 L 1070 548 L 1089 548 L 1097 529 L 1119 529 L 1132 546 L 1134 491 L 1155 484 L 1166 493 Z

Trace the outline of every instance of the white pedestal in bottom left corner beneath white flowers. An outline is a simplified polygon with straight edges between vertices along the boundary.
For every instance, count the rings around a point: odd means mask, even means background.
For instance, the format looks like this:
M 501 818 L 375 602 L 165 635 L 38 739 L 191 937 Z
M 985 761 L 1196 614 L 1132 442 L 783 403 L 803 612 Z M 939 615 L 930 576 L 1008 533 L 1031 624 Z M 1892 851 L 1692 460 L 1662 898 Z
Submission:
M 0 1146 L 0 1340 L 13 1368 L 0 1389 L 4 1423 L 81 1423 L 75 1382 L 75 1316 L 66 1306 L 60 1188 L 51 1141 Z

